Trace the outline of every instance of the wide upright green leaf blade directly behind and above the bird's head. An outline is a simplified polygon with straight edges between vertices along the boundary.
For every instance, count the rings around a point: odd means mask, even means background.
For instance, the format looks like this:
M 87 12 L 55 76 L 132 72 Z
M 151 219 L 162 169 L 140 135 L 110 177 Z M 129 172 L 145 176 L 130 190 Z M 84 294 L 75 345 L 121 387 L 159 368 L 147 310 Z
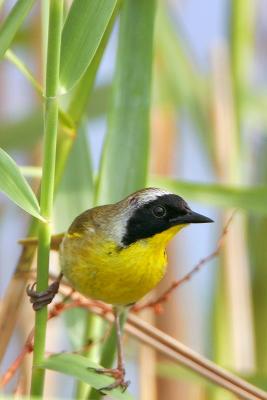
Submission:
M 114 202 L 145 186 L 155 2 L 126 1 L 120 18 L 113 101 L 97 200 Z

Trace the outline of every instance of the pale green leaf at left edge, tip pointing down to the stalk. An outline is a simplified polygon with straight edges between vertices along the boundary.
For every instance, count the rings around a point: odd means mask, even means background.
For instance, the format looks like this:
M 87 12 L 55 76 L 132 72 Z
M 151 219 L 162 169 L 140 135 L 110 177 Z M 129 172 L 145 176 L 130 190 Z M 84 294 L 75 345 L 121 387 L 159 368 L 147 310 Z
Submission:
M 0 190 L 15 204 L 44 221 L 35 194 L 21 174 L 15 161 L 0 148 Z

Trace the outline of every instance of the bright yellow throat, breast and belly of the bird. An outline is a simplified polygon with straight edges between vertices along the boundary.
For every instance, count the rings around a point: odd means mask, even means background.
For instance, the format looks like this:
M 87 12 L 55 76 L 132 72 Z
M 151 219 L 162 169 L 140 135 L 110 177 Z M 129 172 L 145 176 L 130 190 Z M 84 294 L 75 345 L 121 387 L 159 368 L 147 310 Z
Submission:
M 60 254 L 64 275 L 84 295 L 110 304 L 131 304 L 165 273 L 165 248 L 183 226 L 172 227 L 126 248 L 95 237 L 66 237 Z

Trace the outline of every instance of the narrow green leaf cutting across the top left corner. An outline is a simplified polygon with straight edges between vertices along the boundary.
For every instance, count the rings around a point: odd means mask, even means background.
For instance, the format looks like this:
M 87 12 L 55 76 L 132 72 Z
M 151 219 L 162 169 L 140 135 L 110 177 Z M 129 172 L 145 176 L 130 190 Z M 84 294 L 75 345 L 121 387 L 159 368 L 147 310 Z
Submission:
M 18 0 L 0 28 L 0 59 L 9 48 L 15 34 L 29 14 L 35 0 Z

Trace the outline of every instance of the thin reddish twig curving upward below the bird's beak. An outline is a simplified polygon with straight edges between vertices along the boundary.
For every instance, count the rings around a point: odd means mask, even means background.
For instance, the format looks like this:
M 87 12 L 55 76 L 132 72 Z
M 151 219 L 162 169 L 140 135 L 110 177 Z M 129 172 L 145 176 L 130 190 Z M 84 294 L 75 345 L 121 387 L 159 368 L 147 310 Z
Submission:
M 233 221 L 234 215 L 235 215 L 236 211 L 234 211 L 232 213 L 232 215 L 230 216 L 230 218 L 228 219 L 227 223 L 225 224 L 222 234 L 218 240 L 216 249 L 210 253 L 208 256 L 202 258 L 189 272 L 187 272 L 181 279 L 178 279 L 176 281 L 174 281 L 170 287 L 165 290 L 165 292 L 163 292 L 157 299 L 155 300 L 150 300 L 146 303 L 143 304 L 136 304 L 132 307 L 132 311 L 134 312 L 139 312 L 144 310 L 145 308 L 154 308 L 154 310 L 157 313 L 162 312 L 162 303 L 165 303 L 166 301 L 168 301 L 171 293 L 177 289 L 178 287 L 180 287 L 183 283 L 188 282 L 204 265 L 206 265 L 209 261 L 213 260 L 215 257 L 217 257 L 220 253 L 220 250 L 222 248 L 223 242 L 225 240 L 225 237 L 228 233 L 229 230 L 229 226 Z

